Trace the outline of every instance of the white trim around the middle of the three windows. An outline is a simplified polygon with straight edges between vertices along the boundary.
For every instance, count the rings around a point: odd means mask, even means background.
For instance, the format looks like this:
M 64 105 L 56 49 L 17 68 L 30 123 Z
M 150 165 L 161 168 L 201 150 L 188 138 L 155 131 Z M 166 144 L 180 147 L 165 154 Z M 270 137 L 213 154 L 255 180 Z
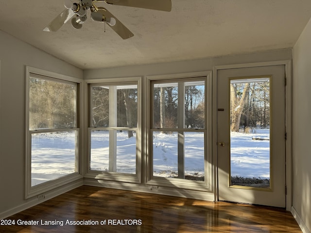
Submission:
M 142 77 L 127 77 L 127 78 L 113 78 L 113 79 L 92 79 L 87 80 L 85 83 L 85 93 L 89 93 L 89 85 L 92 84 L 104 84 L 104 85 L 126 85 L 126 84 L 137 83 L 138 89 L 138 105 L 137 105 L 137 127 L 134 128 L 136 130 L 136 174 L 127 174 L 127 173 L 118 173 L 118 172 L 106 172 L 106 171 L 97 171 L 90 170 L 90 131 L 97 129 L 108 129 L 113 127 L 105 127 L 105 128 L 87 128 L 88 137 L 87 137 L 87 160 L 86 160 L 86 174 L 85 178 L 89 179 L 97 179 L 97 180 L 107 180 L 107 181 L 117 181 L 117 182 L 125 182 L 125 183 L 141 183 L 141 160 L 142 160 L 142 117 L 141 117 L 141 102 L 142 102 Z M 86 96 L 85 101 L 88 103 L 87 109 L 88 116 L 89 113 L 89 94 Z M 88 121 L 89 126 L 89 121 Z M 118 127 L 120 128 L 120 127 Z

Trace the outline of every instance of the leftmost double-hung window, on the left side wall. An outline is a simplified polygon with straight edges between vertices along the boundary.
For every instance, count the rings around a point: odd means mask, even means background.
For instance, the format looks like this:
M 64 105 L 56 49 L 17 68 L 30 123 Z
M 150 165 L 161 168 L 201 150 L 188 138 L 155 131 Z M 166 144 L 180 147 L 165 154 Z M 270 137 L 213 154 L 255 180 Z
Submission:
M 55 186 L 56 182 L 72 179 L 70 175 L 78 175 L 80 131 L 79 84 L 32 67 L 27 70 L 26 196 L 29 197 L 49 189 L 49 183 Z

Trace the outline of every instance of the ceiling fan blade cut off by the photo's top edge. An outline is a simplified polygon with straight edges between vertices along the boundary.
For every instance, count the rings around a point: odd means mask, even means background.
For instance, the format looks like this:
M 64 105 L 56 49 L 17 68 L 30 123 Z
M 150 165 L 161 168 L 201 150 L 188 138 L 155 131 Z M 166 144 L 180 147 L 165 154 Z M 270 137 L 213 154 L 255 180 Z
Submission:
M 104 0 L 107 3 L 120 6 L 132 6 L 158 11 L 171 11 L 172 0 Z

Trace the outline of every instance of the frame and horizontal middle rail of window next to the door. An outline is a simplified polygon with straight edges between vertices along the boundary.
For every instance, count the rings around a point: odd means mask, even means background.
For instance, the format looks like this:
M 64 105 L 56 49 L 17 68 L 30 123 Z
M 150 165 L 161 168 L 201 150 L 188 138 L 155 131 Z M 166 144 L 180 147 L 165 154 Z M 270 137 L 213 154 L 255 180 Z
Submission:
M 212 154 L 212 72 L 191 72 L 169 75 L 153 75 L 147 76 L 146 82 L 146 172 L 145 180 L 148 185 L 167 186 L 181 189 L 190 189 L 197 191 L 213 192 L 213 154 Z M 153 128 L 153 83 L 178 83 L 191 82 L 193 80 L 205 80 L 205 128 L 204 129 L 188 129 L 188 128 Z M 157 177 L 153 175 L 153 132 L 155 131 L 173 131 L 173 132 L 204 132 L 204 148 L 205 148 L 205 180 L 191 181 L 186 179 Z

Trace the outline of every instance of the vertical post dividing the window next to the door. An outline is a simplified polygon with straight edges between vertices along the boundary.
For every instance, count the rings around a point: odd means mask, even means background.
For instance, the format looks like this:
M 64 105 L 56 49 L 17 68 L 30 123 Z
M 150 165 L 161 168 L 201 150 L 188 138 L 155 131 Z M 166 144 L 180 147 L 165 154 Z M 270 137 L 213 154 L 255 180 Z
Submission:
M 178 83 L 178 128 L 185 125 L 185 83 Z M 185 137 L 184 132 L 178 132 L 178 178 L 185 179 Z

